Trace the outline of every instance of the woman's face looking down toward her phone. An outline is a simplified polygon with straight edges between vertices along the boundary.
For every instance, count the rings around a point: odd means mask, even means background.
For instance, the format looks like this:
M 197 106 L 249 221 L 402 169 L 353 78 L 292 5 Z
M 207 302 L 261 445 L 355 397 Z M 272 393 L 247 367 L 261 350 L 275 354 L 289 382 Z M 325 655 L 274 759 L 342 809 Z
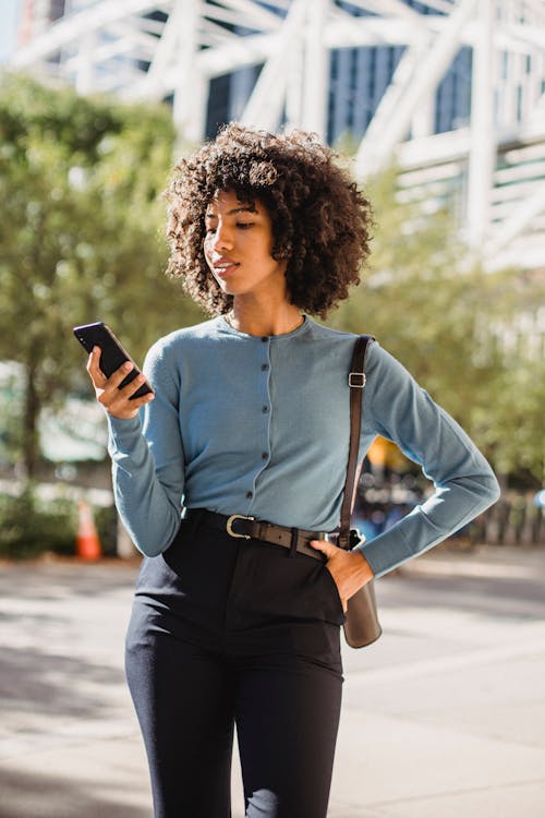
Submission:
M 223 292 L 286 298 L 287 262 L 272 258 L 272 222 L 259 202 L 218 191 L 205 216 L 205 258 Z

